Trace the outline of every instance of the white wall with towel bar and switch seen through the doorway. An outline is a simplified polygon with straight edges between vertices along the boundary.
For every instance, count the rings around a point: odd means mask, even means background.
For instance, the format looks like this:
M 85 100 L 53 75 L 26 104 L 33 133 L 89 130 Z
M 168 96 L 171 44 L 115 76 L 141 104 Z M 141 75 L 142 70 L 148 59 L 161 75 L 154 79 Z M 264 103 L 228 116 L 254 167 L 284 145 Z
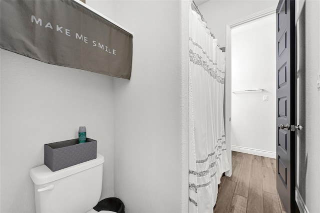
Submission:
M 231 28 L 232 150 L 275 158 L 275 14 Z M 262 97 L 268 96 L 267 101 Z

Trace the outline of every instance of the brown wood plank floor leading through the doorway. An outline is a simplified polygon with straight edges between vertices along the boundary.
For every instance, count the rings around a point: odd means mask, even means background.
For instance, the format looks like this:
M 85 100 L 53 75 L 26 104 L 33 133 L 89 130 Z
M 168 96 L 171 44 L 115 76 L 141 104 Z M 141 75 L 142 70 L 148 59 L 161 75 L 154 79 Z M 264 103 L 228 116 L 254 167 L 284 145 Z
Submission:
M 275 174 L 275 159 L 232 151 L 232 176 L 221 178 L 213 212 L 286 213 Z

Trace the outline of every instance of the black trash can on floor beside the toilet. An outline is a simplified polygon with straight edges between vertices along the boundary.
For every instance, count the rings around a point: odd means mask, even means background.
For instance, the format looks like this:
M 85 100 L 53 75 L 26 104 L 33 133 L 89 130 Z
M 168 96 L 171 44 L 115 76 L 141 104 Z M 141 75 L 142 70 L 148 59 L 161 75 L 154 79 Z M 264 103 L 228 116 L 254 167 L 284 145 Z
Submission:
M 93 209 L 97 212 L 112 211 L 116 213 L 124 213 L 124 204 L 118 198 L 106 198 L 100 201 Z

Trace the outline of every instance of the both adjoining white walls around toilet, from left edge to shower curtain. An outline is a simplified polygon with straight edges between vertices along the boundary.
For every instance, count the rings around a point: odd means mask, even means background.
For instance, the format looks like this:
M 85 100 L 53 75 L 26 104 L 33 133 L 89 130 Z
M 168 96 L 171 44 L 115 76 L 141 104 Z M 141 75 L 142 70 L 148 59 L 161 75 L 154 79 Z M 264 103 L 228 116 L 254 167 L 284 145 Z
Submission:
M 187 212 L 187 1 L 86 2 L 134 32 L 131 79 L 1 50 L 1 213 L 35 211 L 29 169 L 80 125 L 105 157 L 101 199 L 127 213 Z

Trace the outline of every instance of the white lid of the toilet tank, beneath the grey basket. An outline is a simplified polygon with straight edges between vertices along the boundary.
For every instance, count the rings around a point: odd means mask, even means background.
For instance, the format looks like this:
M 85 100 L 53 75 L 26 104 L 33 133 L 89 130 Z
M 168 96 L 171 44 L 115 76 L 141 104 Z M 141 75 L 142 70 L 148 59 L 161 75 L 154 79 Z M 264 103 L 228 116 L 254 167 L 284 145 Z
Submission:
M 104 157 L 100 154 L 96 154 L 96 159 L 86 161 L 80 164 L 76 164 L 71 167 L 67 167 L 55 172 L 52 172 L 47 166 L 41 165 L 30 170 L 30 177 L 34 184 L 42 185 L 47 184 L 61 178 L 82 172 L 92 167 L 103 164 Z

